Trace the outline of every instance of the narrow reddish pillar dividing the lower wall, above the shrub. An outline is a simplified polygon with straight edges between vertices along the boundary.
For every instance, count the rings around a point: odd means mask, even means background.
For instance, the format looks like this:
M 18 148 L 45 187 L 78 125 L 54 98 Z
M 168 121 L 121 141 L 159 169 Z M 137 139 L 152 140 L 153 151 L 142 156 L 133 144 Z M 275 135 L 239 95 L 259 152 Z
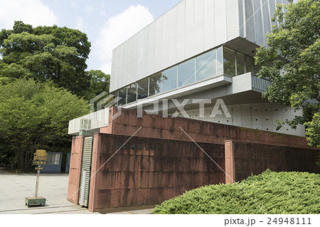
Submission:
M 235 181 L 235 144 L 225 140 L 225 184 Z

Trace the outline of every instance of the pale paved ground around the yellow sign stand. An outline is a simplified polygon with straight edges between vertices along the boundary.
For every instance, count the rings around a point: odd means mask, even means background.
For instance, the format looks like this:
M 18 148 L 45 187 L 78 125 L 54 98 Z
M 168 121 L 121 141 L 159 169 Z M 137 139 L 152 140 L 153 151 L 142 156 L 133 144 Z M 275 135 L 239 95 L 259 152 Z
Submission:
M 0 170 L 0 213 L 92 214 L 87 208 L 66 200 L 68 177 L 68 174 L 40 174 L 38 196 L 46 198 L 46 206 L 31 206 L 28 208 L 24 199 L 25 197 L 34 196 L 36 174 L 12 174 Z M 116 213 L 142 214 L 151 213 L 151 211 L 152 209 L 145 209 Z

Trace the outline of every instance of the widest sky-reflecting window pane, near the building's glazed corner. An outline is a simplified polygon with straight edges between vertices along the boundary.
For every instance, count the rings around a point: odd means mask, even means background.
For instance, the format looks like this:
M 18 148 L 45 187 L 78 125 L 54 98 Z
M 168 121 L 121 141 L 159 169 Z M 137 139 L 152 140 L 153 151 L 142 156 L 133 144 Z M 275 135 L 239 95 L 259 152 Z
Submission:
M 196 58 L 197 81 L 217 75 L 217 50 L 210 51 Z

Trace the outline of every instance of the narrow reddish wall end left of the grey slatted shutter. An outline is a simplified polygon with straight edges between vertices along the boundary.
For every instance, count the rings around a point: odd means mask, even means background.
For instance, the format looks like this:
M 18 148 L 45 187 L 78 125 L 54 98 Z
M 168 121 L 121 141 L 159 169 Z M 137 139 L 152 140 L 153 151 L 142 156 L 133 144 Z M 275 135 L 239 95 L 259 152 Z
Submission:
M 68 200 L 79 203 L 80 174 L 82 164 L 83 136 L 73 137 L 70 157 L 70 171 L 68 182 Z

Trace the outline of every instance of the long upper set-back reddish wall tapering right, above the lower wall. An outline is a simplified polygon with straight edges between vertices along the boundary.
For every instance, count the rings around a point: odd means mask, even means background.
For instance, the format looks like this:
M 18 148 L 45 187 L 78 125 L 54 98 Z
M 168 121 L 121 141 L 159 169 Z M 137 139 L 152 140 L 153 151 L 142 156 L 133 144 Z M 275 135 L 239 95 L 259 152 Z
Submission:
M 181 127 L 196 142 L 224 144 L 225 140 L 237 140 L 258 144 L 307 148 L 306 138 L 304 137 L 181 117 L 164 118 L 161 115 L 147 115 L 145 112 L 143 117 L 137 117 L 137 110 L 122 109 L 122 114 L 115 120 L 112 120 L 112 117 L 118 111 L 117 107 L 110 108 L 109 126 L 100 129 L 101 133 L 131 136 L 134 132 L 137 132 L 139 127 L 142 127 L 136 136 L 191 141 L 180 129 Z

